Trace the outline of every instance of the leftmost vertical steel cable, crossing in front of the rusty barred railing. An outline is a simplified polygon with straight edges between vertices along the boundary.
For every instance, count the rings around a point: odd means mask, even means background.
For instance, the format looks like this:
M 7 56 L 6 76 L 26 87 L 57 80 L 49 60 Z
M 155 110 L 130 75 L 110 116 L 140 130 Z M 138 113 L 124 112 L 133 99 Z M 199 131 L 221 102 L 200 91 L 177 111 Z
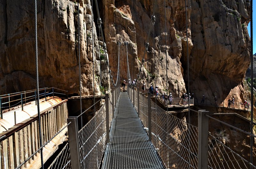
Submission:
M 37 118 L 38 118 L 38 130 L 39 130 L 39 144 L 42 147 L 42 130 L 41 130 L 41 115 L 39 107 L 39 82 L 38 82 L 38 55 L 37 55 L 37 10 L 36 10 L 36 0 L 35 0 L 35 49 L 36 49 L 36 102 L 37 102 Z M 41 156 L 41 168 L 44 169 L 44 158 L 43 158 L 43 149 L 40 150 Z

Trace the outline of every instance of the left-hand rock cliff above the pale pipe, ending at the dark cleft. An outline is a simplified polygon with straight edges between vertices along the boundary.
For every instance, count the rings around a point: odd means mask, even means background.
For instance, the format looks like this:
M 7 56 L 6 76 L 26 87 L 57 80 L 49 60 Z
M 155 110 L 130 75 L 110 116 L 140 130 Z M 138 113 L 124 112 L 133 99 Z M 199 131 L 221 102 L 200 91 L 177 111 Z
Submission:
M 93 94 L 92 36 L 95 38 L 95 86 L 99 93 L 97 34 L 92 35 L 90 1 L 40 1 L 37 6 L 39 86 L 79 94 L 78 29 L 80 30 L 82 95 Z M 34 1 L 0 1 L 0 93 L 34 89 Z

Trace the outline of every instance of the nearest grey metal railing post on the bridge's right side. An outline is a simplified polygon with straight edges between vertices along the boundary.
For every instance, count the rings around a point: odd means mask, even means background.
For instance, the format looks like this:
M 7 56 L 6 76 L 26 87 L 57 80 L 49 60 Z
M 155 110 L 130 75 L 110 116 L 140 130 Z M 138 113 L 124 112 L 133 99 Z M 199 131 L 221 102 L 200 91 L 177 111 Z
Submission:
M 198 169 L 208 168 L 209 111 L 198 111 Z

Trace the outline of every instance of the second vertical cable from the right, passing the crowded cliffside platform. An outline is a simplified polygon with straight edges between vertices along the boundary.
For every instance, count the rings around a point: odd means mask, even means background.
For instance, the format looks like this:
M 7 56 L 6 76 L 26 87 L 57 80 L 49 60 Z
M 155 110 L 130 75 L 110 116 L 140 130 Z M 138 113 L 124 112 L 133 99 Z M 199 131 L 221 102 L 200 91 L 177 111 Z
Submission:
M 187 76 L 188 76 L 188 124 L 190 124 L 190 94 L 189 94 L 189 56 L 188 56 L 188 15 L 187 15 L 187 0 L 185 0 L 185 11 L 186 11 L 186 37 L 187 37 Z M 190 168 L 190 126 L 188 126 L 188 144 L 189 144 L 189 158 L 188 164 Z

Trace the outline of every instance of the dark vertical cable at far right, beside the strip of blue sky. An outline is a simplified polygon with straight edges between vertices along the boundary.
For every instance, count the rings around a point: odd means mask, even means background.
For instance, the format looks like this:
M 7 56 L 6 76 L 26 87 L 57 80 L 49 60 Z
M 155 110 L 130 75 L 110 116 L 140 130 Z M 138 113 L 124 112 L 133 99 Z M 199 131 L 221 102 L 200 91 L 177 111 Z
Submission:
M 253 134 L 253 29 L 252 29 L 252 0 L 250 1 L 251 5 L 251 51 L 250 51 L 250 56 L 251 56 L 251 134 Z M 251 136 L 251 143 L 250 143 L 250 162 L 251 162 L 251 169 L 252 169 L 252 146 L 253 146 L 253 137 Z

